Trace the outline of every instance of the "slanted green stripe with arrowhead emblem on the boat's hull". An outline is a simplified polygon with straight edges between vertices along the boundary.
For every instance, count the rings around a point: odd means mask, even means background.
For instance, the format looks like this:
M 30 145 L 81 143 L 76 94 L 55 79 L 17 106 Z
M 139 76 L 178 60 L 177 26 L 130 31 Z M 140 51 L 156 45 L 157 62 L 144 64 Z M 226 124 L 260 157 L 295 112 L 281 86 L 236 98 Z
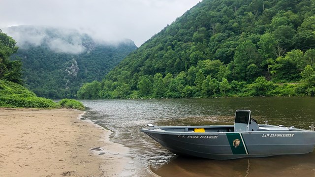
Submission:
M 233 154 L 248 154 L 246 144 L 241 133 L 226 133 L 226 137 Z

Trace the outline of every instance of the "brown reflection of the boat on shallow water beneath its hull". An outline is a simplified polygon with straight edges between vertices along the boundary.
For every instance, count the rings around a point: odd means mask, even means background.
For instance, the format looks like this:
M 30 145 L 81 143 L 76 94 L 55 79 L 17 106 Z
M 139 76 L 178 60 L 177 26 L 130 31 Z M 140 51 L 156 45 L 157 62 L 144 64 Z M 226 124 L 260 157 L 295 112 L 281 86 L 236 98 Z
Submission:
M 158 170 L 162 177 L 314 177 L 315 154 L 209 160 L 177 157 Z

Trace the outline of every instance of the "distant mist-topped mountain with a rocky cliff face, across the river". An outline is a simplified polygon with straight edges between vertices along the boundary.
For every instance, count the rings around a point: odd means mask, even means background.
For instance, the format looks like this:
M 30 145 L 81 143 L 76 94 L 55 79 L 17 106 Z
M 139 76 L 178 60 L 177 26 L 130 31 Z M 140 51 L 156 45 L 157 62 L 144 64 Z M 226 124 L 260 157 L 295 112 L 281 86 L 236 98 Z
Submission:
M 25 86 L 47 98 L 75 98 L 83 83 L 101 81 L 137 48 L 129 39 L 106 43 L 74 29 L 18 26 L 3 32 L 17 41 L 11 59 L 23 62 Z

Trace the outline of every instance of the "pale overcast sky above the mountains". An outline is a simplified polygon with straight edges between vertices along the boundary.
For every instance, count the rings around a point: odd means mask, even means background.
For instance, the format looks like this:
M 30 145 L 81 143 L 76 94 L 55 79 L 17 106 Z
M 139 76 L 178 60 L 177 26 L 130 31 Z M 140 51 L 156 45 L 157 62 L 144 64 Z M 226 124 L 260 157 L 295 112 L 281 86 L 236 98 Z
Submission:
M 139 47 L 199 1 L 0 0 L 0 28 L 74 28 L 106 41 L 128 38 Z

